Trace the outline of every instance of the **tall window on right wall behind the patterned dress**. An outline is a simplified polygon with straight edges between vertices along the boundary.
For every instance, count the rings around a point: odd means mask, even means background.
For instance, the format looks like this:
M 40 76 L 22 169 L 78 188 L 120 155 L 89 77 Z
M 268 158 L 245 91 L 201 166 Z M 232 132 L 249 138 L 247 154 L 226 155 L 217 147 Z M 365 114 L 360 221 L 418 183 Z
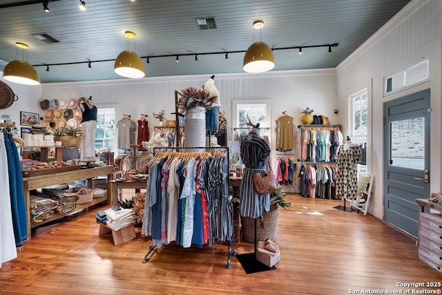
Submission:
M 350 134 L 352 142 L 361 146 L 362 161 L 358 165 L 361 173 L 367 173 L 367 133 L 368 133 L 368 95 L 367 88 L 349 97 L 351 116 Z

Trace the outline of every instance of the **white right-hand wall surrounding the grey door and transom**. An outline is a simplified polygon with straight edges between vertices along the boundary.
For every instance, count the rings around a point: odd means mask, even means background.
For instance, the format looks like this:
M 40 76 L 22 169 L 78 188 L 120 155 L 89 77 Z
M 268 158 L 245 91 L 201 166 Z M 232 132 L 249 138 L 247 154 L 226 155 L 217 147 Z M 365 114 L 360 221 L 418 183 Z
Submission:
M 337 68 L 340 123 L 348 128 L 348 97 L 369 89 L 371 140 L 367 146 L 369 173 L 374 174 L 370 213 L 383 217 L 383 103 L 431 88 L 431 191 L 441 191 L 441 66 L 442 1 L 413 0 Z M 430 60 L 430 82 L 383 97 L 385 76 Z

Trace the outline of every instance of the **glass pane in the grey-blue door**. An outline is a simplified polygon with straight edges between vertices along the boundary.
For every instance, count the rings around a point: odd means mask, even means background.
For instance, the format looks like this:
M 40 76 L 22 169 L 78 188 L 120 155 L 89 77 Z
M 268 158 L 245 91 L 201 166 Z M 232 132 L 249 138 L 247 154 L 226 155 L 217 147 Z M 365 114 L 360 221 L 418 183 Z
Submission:
M 392 166 L 424 169 L 425 119 L 417 117 L 390 123 Z

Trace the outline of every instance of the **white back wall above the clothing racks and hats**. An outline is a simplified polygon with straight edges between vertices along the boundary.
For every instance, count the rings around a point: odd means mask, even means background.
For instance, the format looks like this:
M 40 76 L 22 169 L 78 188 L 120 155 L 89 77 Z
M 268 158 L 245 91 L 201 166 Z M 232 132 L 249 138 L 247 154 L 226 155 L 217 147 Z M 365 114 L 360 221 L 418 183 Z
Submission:
M 200 88 L 208 77 L 176 76 L 146 77 L 143 79 L 119 79 L 100 82 L 73 82 L 42 84 L 41 96 L 46 99 L 70 99 L 93 97 L 97 106 L 115 107 L 116 119 L 123 114 L 137 120 L 141 113 L 148 114 L 149 128 L 158 124 L 152 113 L 166 111 L 166 119 L 175 120 L 175 90 L 193 86 Z M 221 109 L 226 111 L 231 139 L 232 100 L 270 99 L 272 150 L 275 153 L 275 120 L 287 111 L 300 124 L 301 111 L 307 106 L 315 114 L 327 115 L 332 124 L 337 124 L 336 71 L 334 69 L 294 70 L 263 74 L 216 75 L 215 86 L 220 92 Z M 273 157 L 273 159 L 275 159 Z

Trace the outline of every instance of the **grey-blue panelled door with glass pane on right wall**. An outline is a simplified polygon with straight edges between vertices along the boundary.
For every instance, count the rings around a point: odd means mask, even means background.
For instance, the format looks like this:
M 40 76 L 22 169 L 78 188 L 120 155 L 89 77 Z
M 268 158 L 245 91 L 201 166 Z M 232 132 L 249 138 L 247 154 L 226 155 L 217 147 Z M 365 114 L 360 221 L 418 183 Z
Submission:
M 416 198 L 430 196 L 430 90 L 384 104 L 384 219 L 418 234 Z

